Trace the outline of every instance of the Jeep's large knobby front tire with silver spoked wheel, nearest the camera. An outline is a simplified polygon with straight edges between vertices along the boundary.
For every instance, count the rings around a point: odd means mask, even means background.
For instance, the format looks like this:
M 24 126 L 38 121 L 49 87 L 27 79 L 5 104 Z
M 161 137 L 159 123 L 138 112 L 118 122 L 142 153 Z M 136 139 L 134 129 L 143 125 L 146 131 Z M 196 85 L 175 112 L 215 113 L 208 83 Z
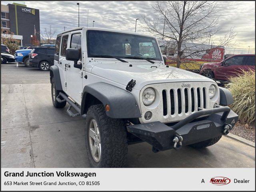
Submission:
M 124 122 L 106 115 L 102 104 L 90 106 L 85 120 L 85 146 L 91 167 L 123 167 L 127 158 Z

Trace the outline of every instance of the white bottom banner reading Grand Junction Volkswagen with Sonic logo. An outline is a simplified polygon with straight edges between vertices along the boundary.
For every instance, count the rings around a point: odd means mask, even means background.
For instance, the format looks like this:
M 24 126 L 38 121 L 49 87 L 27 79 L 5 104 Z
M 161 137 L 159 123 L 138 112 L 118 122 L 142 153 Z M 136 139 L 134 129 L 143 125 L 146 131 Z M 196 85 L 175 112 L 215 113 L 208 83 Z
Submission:
M 254 168 L 1 168 L 1 191 L 255 191 Z

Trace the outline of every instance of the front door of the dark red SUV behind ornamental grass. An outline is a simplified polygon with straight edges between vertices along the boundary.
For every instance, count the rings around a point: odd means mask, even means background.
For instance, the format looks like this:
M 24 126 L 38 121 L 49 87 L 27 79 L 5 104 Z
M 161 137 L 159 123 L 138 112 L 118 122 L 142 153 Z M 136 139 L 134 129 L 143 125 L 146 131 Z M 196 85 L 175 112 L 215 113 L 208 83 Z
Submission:
M 216 69 L 216 79 L 228 80 L 231 76 L 237 76 L 237 74 L 243 68 L 245 56 L 234 56 L 223 61 L 222 66 Z

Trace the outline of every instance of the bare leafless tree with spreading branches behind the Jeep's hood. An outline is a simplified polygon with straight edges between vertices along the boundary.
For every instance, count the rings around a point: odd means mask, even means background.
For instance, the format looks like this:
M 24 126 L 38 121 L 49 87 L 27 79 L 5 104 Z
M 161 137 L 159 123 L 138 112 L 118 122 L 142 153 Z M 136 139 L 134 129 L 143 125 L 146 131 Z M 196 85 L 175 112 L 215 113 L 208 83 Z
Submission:
M 215 42 L 218 28 L 218 2 L 208 1 L 157 1 L 152 8 L 159 17 L 156 21 L 149 16 L 142 16 L 146 30 L 160 37 L 165 44 L 176 50 L 176 66 L 192 56 L 202 56 L 209 51 L 210 39 L 215 46 L 232 46 L 236 33 L 233 28 L 228 34 Z

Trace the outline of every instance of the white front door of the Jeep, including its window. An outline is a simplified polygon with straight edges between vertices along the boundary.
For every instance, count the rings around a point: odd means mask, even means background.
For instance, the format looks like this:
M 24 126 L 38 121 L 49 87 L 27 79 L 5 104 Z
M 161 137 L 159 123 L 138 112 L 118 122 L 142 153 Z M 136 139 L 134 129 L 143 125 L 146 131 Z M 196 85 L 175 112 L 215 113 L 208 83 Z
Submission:
M 79 50 L 80 59 L 78 64 L 84 63 L 82 58 L 82 30 L 74 31 L 70 33 L 70 41 L 68 48 L 74 48 Z M 83 82 L 83 70 L 74 68 L 74 61 L 67 61 L 68 67 L 66 67 L 66 82 L 67 91 L 66 93 L 78 104 L 81 104 L 82 98 L 82 82 Z

